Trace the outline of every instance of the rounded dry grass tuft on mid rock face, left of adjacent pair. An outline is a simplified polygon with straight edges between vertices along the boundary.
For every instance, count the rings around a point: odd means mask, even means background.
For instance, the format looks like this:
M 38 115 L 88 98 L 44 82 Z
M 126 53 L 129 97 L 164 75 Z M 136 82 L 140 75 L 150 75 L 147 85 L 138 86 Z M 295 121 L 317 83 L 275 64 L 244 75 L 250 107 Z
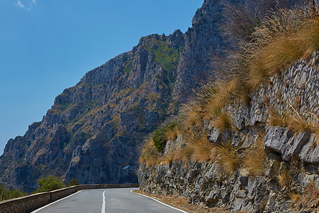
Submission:
M 240 168 L 240 156 L 231 144 L 216 147 L 216 155 L 218 155 L 216 158 L 218 163 L 225 168 L 228 175 L 235 173 Z

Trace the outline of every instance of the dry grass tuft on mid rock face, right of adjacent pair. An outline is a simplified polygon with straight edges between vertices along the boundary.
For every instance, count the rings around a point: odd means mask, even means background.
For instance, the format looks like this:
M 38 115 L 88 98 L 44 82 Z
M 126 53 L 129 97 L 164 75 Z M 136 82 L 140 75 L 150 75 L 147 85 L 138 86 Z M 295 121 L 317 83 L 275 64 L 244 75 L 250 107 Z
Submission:
M 262 175 L 264 172 L 264 146 L 263 137 L 259 136 L 254 145 L 247 151 L 242 166 L 248 170 L 249 175 Z

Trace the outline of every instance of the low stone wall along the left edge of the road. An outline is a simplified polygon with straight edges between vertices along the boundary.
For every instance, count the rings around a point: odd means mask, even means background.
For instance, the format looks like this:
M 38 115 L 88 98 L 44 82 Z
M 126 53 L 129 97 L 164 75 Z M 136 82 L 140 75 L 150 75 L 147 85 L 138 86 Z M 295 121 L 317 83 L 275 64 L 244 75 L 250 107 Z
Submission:
M 72 187 L 54 190 L 50 192 L 41 192 L 34 195 L 18 197 L 11 200 L 4 200 L 0 202 L 1 213 L 29 213 L 35 209 L 45 206 L 50 202 L 55 202 L 63 197 L 72 195 L 79 190 L 90 189 L 105 189 L 105 188 L 128 188 L 139 187 L 138 183 L 125 183 L 125 184 L 94 184 L 94 185 L 75 185 Z

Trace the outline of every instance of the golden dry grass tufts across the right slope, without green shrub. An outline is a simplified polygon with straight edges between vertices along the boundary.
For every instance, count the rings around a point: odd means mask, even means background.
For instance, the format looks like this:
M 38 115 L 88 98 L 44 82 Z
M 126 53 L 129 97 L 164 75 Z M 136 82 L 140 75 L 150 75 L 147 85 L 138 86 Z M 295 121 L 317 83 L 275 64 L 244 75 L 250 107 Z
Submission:
M 195 129 L 203 127 L 204 120 L 213 120 L 213 126 L 218 129 L 229 129 L 232 121 L 225 112 L 225 106 L 234 100 L 241 100 L 250 104 L 250 90 L 267 82 L 269 77 L 286 69 L 289 65 L 301 58 L 308 58 L 310 53 L 319 49 L 319 18 L 304 11 L 280 11 L 267 16 L 261 27 L 256 28 L 252 43 L 242 45 L 242 52 L 237 55 L 238 67 L 231 79 L 225 82 L 206 85 L 206 93 L 201 94 L 189 104 L 184 104 L 179 111 L 179 127 L 169 129 L 165 133 L 167 140 L 175 140 L 178 134 L 187 136 L 188 143 L 180 151 L 167 156 L 160 156 L 153 151 L 150 143 L 145 143 L 145 151 L 141 160 L 150 161 L 150 165 L 172 160 L 204 161 L 219 156 L 220 164 L 224 165 L 228 173 L 233 173 L 240 167 L 240 157 L 232 146 L 212 148 L 206 135 L 194 134 Z M 297 14 L 297 15 L 296 15 Z M 296 16 L 304 16 L 302 18 Z M 310 18 L 309 18 L 310 17 Z M 266 103 L 265 103 L 266 104 Z M 298 102 L 296 101 L 296 105 Z M 296 113 L 282 112 L 281 114 L 270 110 L 270 126 L 285 126 L 293 132 L 308 131 L 319 134 L 318 122 L 306 121 L 303 116 Z M 244 166 L 251 175 L 258 175 L 263 158 L 262 147 L 256 146 L 247 151 L 243 161 Z M 279 175 L 279 183 L 284 184 L 284 173 Z

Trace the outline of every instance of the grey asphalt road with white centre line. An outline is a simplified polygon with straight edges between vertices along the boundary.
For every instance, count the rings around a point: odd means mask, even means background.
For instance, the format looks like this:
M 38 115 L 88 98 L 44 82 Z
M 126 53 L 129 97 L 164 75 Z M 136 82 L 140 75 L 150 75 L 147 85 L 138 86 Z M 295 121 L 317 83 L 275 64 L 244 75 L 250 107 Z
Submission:
M 82 190 L 62 200 L 58 200 L 37 213 L 113 213 L 113 212 L 179 212 L 176 209 L 160 204 L 155 200 L 136 195 L 130 190 L 138 188 L 118 188 Z M 179 212 L 180 213 L 180 212 Z

